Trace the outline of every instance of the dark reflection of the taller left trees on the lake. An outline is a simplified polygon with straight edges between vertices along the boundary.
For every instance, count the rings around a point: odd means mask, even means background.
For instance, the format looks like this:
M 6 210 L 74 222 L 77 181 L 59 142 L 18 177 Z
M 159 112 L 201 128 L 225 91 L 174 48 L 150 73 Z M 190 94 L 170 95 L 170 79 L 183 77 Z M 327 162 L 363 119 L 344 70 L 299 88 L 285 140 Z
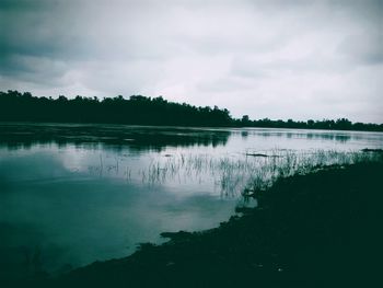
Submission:
M 11 150 L 30 149 L 34 145 L 55 142 L 115 150 L 130 148 L 134 151 L 155 150 L 164 147 L 224 146 L 230 130 L 193 129 L 179 127 L 140 127 L 124 125 L 70 125 L 70 124 L 2 124 L 0 146 Z

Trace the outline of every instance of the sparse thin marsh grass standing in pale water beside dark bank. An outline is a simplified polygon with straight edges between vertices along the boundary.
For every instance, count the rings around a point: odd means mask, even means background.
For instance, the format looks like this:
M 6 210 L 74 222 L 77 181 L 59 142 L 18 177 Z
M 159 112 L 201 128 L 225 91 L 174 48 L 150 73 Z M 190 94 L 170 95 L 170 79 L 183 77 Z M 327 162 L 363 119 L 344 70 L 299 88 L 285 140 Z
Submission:
M 262 157 L 253 157 L 259 155 Z M 280 177 L 305 174 L 328 165 L 347 165 L 381 158 L 379 152 L 336 150 L 269 150 L 246 151 L 243 154 L 173 154 L 153 159 L 138 174 L 148 185 L 206 183 L 221 196 L 237 197 L 244 191 L 265 191 Z M 131 172 L 129 172 L 130 175 Z M 130 178 L 131 176 L 129 176 Z

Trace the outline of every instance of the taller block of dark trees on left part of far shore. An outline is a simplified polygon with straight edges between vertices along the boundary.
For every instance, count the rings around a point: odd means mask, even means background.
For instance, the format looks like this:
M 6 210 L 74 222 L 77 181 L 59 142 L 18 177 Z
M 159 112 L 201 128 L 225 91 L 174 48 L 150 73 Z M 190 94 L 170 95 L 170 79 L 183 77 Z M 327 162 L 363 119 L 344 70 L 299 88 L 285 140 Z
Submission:
M 228 110 L 196 107 L 169 102 L 162 96 L 58 99 L 36 97 L 30 92 L 0 92 L 0 120 L 116 123 L 131 125 L 230 126 Z

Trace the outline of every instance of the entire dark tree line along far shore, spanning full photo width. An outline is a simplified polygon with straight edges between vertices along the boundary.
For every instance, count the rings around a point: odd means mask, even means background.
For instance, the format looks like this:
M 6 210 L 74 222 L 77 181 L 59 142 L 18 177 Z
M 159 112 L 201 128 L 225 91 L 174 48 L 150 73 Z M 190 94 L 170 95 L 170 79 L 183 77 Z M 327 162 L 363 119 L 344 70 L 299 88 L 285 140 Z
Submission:
M 225 108 L 175 103 L 162 96 L 57 99 L 37 97 L 30 92 L 0 92 L 1 122 L 108 123 L 158 126 L 265 127 L 383 131 L 383 124 L 351 123 L 346 118 L 287 122 L 269 118 L 252 120 L 247 115 L 233 118 Z

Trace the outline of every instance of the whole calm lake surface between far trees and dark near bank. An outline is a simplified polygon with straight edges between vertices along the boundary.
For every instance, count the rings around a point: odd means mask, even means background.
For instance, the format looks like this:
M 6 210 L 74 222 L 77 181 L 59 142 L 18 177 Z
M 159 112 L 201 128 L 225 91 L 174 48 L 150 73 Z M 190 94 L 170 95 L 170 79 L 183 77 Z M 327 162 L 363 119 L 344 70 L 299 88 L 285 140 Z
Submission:
M 309 163 L 330 150 L 330 163 L 382 147 L 379 133 L 2 124 L 1 270 L 19 277 L 123 257 L 164 241 L 163 231 L 228 220 L 257 171 L 286 153 Z

